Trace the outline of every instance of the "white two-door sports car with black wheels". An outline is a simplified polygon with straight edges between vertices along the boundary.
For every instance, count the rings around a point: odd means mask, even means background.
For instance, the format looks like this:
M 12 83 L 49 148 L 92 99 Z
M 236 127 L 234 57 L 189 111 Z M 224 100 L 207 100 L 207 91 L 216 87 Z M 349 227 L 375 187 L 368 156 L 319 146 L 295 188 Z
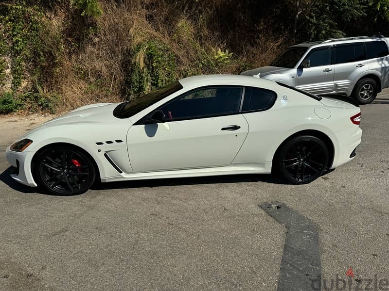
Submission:
M 354 158 L 362 130 L 353 102 L 249 76 L 196 76 L 54 118 L 6 156 L 12 178 L 52 194 L 81 194 L 96 180 L 272 170 L 303 184 Z

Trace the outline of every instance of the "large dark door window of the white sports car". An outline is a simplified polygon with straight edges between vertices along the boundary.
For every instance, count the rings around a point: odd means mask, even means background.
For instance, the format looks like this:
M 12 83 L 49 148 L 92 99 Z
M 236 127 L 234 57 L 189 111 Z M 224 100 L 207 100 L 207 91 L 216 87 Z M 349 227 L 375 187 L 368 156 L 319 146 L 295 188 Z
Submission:
M 208 87 L 192 91 L 163 105 L 166 120 L 184 120 L 239 112 L 241 87 Z

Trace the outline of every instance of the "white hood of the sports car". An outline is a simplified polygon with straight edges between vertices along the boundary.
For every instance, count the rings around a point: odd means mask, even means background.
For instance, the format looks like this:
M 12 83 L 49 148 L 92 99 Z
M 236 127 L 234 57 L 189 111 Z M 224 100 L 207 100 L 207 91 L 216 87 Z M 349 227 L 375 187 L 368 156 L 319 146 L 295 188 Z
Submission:
M 114 123 L 120 121 L 113 116 L 112 112 L 119 103 L 97 103 L 77 108 L 69 113 L 53 118 L 37 128 L 28 132 L 28 134 L 44 128 L 68 125 L 68 124 L 101 124 Z

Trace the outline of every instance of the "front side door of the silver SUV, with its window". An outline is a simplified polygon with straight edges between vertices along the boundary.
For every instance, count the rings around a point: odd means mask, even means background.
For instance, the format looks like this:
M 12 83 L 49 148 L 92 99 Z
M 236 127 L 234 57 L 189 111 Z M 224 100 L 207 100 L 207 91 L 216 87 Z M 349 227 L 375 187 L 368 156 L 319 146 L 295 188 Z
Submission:
M 334 91 L 334 65 L 331 65 L 332 47 L 312 49 L 304 58 L 310 67 L 297 69 L 296 87 L 312 94 Z

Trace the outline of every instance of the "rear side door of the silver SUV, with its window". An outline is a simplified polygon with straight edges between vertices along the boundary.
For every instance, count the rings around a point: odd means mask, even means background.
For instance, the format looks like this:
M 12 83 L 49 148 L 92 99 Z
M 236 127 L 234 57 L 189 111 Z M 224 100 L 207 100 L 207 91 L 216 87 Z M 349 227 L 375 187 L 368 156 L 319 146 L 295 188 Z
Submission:
M 335 64 L 334 91 L 350 95 L 355 79 L 368 70 L 365 44 L 361 42 L 335 45 L 333 53 Z

